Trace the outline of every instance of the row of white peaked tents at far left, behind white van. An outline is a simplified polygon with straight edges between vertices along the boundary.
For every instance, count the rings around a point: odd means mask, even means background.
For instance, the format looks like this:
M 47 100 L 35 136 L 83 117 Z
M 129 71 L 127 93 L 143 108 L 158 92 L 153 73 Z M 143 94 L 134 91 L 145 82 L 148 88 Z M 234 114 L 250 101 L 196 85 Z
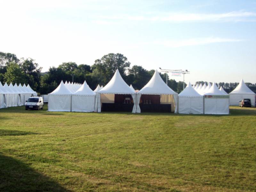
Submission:
M 37 93 L 31 89 L 29 84 L 27 86 L 25 84 L 18 86 L 16 83 L 3 85 L 0 82 L 0 108 L 22 106 L 32 95 L 36 96 Z

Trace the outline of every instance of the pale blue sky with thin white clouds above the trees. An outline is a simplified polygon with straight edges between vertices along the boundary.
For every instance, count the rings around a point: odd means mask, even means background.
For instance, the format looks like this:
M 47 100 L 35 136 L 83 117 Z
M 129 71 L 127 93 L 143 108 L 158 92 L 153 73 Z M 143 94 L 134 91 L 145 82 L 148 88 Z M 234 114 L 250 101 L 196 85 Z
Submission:
M 0 51 L 43 72 L 122 53 L 185 82 L 256 83 L 256 0 L 0 0 Z M 176 81 L 183 77 L 171 76 Z

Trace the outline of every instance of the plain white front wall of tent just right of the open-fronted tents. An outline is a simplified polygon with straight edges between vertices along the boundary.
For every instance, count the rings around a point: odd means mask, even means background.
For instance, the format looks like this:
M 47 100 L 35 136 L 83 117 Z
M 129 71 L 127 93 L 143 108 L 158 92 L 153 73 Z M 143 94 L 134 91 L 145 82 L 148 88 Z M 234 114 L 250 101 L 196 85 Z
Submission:
M 181 114 L 203 114 L 203 97 L 179 97 L 178 113 Z

